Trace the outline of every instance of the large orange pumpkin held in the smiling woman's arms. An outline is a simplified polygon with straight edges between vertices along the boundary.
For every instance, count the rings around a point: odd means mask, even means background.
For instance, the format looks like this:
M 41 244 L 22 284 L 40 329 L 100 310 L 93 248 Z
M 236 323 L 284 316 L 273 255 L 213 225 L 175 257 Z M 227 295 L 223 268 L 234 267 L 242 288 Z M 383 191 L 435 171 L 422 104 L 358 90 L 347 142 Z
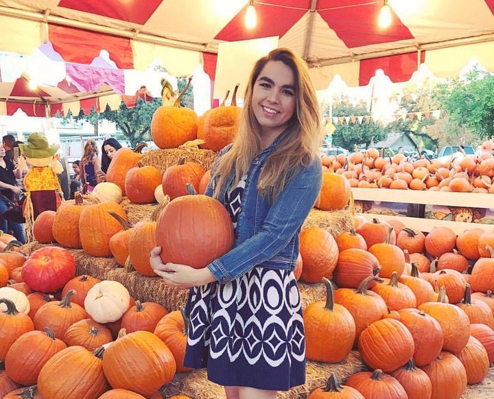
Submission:
M 187 184 L 189 192 L 195 192 Z M 156 245 L 163 263 L 201 269 L 233 247 L 228 211 L 215 198 L 202 194 L 179 196 L 163 209 L 156 225 Z

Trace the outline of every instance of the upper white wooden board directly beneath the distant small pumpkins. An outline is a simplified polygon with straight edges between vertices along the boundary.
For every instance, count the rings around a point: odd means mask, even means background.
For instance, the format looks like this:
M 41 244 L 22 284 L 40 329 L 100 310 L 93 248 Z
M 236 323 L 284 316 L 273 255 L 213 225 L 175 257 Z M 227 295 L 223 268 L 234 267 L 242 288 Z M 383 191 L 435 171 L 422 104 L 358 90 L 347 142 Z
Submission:
M 469 208 L 494 207 L 493 194 L 358 187 L 352 187 L 351 190 L 353 198 L 360 201 L 384 201 L 389 203 L 446 205 Z

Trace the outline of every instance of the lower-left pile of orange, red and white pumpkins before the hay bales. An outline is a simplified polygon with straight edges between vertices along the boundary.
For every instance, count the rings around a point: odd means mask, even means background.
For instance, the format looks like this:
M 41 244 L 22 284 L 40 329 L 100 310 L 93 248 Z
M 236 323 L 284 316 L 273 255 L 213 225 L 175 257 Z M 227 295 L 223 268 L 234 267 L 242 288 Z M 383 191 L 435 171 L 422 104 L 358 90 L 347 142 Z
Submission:
M 75 277 L 61 247 L 1 253 L 0 275 L 14 264 L 23 282 L 0 288 L 1 398 L 162 398 L 158 389 L 188 370 L 180 311 L 134 301 L 119 282 Z

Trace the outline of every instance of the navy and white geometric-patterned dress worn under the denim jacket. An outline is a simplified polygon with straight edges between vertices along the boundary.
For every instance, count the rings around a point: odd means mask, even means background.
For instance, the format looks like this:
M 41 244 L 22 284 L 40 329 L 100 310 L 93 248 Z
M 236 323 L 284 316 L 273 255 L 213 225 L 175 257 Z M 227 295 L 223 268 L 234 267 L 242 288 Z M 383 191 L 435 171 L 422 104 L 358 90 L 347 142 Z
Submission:
M 226 192 L 233 227 L 245 179 Z M 191 288 L 184 364 L 224 386 L 287 391 L 305 383 L 301 297 L 293 272 L 255 267 L 227 284 Z

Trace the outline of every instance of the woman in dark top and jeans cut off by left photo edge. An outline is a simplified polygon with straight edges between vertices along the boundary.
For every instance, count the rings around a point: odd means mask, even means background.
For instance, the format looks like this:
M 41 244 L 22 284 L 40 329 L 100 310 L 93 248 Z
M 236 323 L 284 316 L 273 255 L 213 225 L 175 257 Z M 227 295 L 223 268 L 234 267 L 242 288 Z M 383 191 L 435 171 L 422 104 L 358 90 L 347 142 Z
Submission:
M 22 192 L 21 187 L 16 185 L 16 179 L 21 179 L 22 171 L 19 169 L 18 161 L 13 161 L 12 157 L 5 157 L 5 148 L 0 146 L 0 192 L 8 198 L 9 201 L 14 201 L 16 196 Z M 4 233 L 12 231 L 13 236 L 25 243 L 25 235 L 23 225 L 21 223 L 8 222 L 3 218 L 3 212 L 9 208 L 8 201 L 0 196 L 0 230 Z

